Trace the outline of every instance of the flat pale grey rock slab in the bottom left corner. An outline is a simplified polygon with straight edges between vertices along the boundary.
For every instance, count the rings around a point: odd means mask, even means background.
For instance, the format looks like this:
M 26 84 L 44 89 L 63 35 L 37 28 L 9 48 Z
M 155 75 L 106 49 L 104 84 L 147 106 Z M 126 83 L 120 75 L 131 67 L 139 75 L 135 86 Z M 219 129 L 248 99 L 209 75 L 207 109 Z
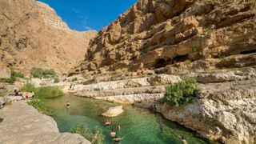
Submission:
M 90 144 L 79 134 L 59 133 L 53 118 L 40 114 L 25 102 L 13 102 L 0 110 L 0 143 Z

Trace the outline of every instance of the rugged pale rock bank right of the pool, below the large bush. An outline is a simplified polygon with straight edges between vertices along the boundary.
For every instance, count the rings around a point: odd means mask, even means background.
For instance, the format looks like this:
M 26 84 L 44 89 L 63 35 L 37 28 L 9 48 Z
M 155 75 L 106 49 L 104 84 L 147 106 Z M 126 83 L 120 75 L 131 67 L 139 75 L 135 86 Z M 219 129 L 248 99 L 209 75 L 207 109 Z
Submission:
M 162 114 L 205 138 L 223 143 L 255 143 L 256 81 L 202 85 L 198 99 L 180 108 L 162 106 Z

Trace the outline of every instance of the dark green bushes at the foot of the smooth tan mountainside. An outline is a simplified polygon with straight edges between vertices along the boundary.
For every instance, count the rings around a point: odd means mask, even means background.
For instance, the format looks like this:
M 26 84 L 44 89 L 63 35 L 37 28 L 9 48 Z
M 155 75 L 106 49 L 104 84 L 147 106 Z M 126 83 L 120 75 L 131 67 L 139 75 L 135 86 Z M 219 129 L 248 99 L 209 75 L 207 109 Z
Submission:
M 33 78 L 51 78 L 56 75 L 54 69 L 42 70 L 42 68 L 38 67 L 33 67 L 30 70 L 30 74 L 33 76 Z

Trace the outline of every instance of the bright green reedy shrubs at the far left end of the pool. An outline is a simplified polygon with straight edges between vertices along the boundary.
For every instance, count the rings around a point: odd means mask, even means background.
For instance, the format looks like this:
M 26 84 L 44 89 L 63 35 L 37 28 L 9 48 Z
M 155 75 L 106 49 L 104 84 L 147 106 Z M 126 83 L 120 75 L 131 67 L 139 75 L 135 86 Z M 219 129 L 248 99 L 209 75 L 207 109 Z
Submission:
M 21 91 L 34 92 L 34 96 L 36 98 L 57 98 L 64 95 L 62 90 L 58 87 L 42 86 L 36 88 L 30 83 L 26 83 L 24 86 L 22 86 Z

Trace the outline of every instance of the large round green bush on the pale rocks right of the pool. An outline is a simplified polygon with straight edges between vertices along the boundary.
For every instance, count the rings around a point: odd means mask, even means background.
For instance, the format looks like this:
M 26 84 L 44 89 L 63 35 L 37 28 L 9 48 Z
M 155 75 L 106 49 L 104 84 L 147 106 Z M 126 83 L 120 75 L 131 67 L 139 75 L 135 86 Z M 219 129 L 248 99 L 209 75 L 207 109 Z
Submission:
M 199 90 L 198 82 L 194 78 L 185 78 L 172 86 L 166 86 L 166 94 L 162 102 L 174 107 L 181 106 L 191 102 L 196 97 L 197 90 Z

